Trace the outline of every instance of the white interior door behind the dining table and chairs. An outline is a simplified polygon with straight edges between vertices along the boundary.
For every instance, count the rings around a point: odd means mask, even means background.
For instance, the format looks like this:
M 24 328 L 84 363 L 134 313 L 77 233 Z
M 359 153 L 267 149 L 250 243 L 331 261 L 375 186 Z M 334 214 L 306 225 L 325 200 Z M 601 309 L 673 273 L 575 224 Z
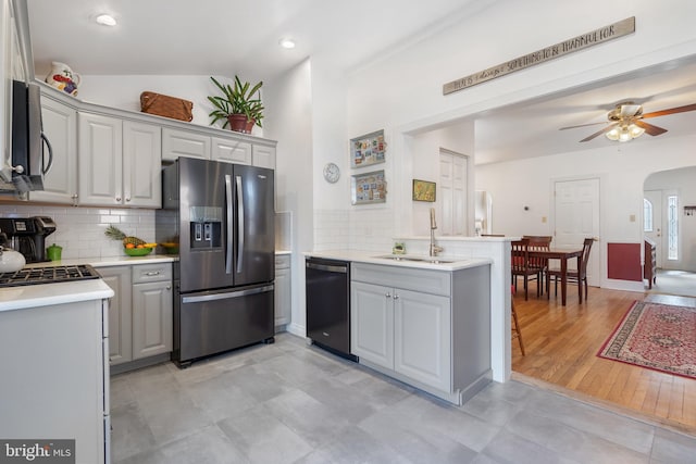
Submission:
M 587 283 L 599 286 L 599 179 L 562 180 L 554 183 L 555 233 L 554 248 L 577 249 L 585 238 L 597 239 L 587 263 Z M 575 261 L 575 260 L 572 260 Z M 568 263 L 575 267 L 575 262 Z

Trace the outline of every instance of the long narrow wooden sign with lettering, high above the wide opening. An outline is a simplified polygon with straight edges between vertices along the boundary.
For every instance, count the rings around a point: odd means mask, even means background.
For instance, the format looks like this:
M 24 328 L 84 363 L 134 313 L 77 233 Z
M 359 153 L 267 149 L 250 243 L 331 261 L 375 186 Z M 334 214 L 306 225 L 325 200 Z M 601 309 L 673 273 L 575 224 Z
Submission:
M 544 63 L 545 61 L 555 60 L 564 54 L 594 47 L 633 33 L 635 33 L 635 16 L 600 27 L 599 29 L 591 30 L 582 36 L 573 37 L 572 39 L 515 58 L 497 66 L 488 67 L 487 70 L 471 74 L 461 79 L 447 83 L 443 86 L 443 95 L 453 93 L 473 87 L 476 84 L 485 83 L 486 80 L 495 79 L 496 77 L 501 77 L 506 74 L 514 73 L 515 71 L 521 71 L 535 64 Z

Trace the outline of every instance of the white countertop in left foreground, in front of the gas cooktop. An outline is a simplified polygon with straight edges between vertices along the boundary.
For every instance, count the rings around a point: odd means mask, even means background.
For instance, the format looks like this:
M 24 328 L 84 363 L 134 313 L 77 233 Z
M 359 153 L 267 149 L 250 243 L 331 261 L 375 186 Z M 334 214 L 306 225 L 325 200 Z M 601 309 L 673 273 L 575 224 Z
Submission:
M 113 297 L 102 279 L 0 288 L 0 311 L 76 303 Z

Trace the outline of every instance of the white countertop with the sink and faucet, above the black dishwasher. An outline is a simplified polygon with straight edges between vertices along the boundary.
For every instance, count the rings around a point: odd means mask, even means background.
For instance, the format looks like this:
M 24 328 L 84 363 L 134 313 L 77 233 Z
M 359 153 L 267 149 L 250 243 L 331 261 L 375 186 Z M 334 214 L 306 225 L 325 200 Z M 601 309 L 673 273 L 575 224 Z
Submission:
M 461 256 L 427 256 L 420 254 L 391 254 L 378 251 L 308 251 L 306 256 L 324 258 L 328 260 L 341 260 L 357 263 L 382 264 L 388 266 L 415 267 L 433 271 L 459 271 L 469 267 L 483 266 L 493 263 L 487 258 L 461 258 Z M 395 259 L 398 258 L 398 261 Z

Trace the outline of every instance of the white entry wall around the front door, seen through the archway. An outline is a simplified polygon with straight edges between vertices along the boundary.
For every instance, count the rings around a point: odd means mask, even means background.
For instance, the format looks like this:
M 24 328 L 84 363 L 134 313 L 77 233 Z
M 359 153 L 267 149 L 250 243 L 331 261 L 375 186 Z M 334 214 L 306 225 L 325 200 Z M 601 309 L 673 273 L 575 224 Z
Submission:
M 676 190 L 679 195 L 680 259 L 663 259 L 663 267 L 696 272 L 696 215 L 684 214 L 684 206 L 696 205 L 696 166 L 660 171 L 645 179 L 644 190 Z M 663 214 L 667 211 L 663 210 Z

